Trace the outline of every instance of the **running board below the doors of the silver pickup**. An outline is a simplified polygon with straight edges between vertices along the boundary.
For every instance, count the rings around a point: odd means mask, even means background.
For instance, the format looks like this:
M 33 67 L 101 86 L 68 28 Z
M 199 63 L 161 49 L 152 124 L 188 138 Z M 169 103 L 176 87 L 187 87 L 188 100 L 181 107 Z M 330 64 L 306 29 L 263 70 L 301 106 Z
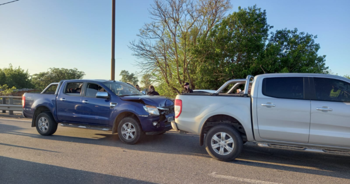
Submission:
M 343 154 L 343 155 L 349 155 L 350 156 L 350 152 L 349 151 L 342 151 L 342 150 L 332 150 L 332 149 L 302 147 L 302 146 L 291 146 L 291 145 L 283 145 L 283 144 L 269 144 L 269 143 L 261 143 L 261 142 L 258 142 L 257 145 L 259 147 L 265 147 L 265 148 L 268 147 L 268 148 L 297 150 L 297 151 L 305 151 L 305 152 Z

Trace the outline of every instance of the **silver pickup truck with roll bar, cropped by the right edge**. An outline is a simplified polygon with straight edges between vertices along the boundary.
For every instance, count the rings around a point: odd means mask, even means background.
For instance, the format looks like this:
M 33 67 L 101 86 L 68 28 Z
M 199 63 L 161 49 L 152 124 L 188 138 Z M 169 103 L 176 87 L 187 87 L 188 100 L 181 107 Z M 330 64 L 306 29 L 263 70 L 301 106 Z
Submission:
M 240 85 L 244 93 L 232 94 Z M 200 146 L 220 161 L 235 159 L 246 141 L 350 155 L 350 80 L 321 74 L 229 80 L 215 93 L 177 95 L 172 126 L 200 135 Z

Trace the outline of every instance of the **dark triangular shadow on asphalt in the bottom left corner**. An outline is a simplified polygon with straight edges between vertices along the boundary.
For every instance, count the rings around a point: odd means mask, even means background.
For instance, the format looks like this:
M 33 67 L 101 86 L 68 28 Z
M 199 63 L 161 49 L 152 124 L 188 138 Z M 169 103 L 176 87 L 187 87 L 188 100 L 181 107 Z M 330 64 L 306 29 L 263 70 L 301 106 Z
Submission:
M 154 184 L 140 180 L 78 169 L 40 164 L 0 156 L 3 184 Z M 18 177 L 20 173 L 20 177 Z

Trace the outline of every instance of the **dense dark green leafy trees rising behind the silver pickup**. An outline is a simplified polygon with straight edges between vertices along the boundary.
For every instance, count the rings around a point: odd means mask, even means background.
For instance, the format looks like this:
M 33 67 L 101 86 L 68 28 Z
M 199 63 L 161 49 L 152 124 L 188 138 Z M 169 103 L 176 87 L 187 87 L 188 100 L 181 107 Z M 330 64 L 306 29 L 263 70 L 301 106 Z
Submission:
M 256 5 L 224 18 L 193 49 L 200 65 L 196 88 L 216 90 L 229 79 L 264 73 L 329 73 L 326 56 L 317 54 L 317 36 L 297 29 L 269 36 L 271 28 Z

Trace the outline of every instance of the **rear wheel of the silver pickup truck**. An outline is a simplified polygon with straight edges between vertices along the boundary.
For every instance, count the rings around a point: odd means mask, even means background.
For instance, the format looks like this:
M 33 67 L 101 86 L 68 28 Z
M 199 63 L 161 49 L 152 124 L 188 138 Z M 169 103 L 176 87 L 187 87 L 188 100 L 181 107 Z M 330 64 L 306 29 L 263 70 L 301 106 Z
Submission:
M 211 146 L 211 141 L 212 141 L 212 138 L 214 138 L 214 135 L 217 135 L 217 134 L 220 137 L 220 138 L 219 137 L 217 137 L 217 138 L 222 139 L 220 136 L 220 135 L 222 135 L 222 134 L 220 134 L 221 132 L 226 133 L 225 140 L 228 139 L 229 137 L 231 137 L 233 139 L 233 144 L 226 143 L 226 141 L 225 141 L 225 143 L 221 142 L 222 140 L 219 140 L 220 142 L 213 141 L 214 145 L 216 144 L 216 146 L 221 144 L 218 148 L 215 149 L 216 150 L 215 151 L 214 148 Z M 206 135 L 206 139 L 205 139 L 205 147 L 206 147 L 207 152 L 210 154 L 210 156 L 215 158 L 216 160 L 231 161 L 231 160 L 234 160 L 235 158 L 237 158 L 237 156 L 242 152 L 243 140 L 242 140 L 241 134 L 234 127 L 221 124 L 221 125 L 216 125 L 216 126 L 212 127 L 208 131 L 208 133 Z M 233 148 L 233 149 L 229 153 L 227 148 L 231 148 L 231 149 Z M 221 149 L 224 150 L 224 152 L 222 154 L 219 154 Z M 217 152 L 219 152 L 219 153 L 217 153 Z

